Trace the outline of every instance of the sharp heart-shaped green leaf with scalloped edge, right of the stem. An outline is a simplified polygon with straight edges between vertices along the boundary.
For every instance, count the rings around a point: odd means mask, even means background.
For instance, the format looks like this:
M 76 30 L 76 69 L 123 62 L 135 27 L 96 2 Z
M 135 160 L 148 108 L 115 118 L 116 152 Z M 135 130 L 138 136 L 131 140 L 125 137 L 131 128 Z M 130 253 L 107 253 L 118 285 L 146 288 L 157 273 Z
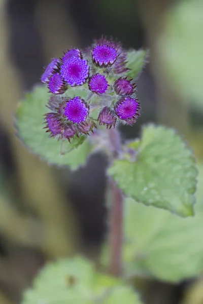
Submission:
M 181 137 L 173 129 L 148 125 L 135 152 L 136 161 L 116 160 L 109 169 L 124 194 L 184 217 L 193 215 L 197 169 Z

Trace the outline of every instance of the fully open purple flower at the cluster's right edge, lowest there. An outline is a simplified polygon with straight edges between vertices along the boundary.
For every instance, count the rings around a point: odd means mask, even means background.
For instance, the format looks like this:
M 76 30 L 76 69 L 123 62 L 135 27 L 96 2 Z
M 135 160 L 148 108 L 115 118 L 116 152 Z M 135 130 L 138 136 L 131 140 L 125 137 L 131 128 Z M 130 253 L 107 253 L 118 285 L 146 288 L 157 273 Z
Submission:
M 140 116 L 140 103 L 135 98 L 123 97 L 116 103 L 114 109 L 118 118 L 129 125 L 134 124 L 137 117 Z

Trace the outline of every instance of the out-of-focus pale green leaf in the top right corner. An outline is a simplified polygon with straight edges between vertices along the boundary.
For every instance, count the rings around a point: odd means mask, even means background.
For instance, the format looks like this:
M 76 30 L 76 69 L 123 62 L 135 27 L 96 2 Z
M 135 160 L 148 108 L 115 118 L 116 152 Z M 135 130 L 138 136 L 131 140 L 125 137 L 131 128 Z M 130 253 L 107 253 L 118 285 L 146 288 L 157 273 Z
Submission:
M 178 1 L 167 10 L 157 45 L 160 66 L 183 100 L 203 110 L 202 0 Z M 195 47 L 194 47 L 195 46 Z

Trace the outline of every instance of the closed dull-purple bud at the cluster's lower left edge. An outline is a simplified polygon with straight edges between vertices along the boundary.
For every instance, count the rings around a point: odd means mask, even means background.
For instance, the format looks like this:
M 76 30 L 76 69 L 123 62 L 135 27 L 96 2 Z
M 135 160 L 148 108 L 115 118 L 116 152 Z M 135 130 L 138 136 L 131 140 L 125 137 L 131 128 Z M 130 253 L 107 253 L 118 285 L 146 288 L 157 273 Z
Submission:
M 50 137 L 55 137 L 56 135 L 61 135 L 62 126 L 60 117 L 56 113 L 47 113 L 45 114 L 46 127 L 48 130 L 46 132 L 50 132 Z

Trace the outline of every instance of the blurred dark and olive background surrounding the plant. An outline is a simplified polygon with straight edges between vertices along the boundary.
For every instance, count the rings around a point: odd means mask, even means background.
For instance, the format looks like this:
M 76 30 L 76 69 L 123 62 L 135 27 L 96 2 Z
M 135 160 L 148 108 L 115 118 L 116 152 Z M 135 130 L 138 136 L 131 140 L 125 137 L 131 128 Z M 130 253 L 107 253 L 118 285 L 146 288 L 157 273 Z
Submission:
M 96 260 L 105 238 L 105 157 L 92 156 L 74 173 L 49 167 L 13 125 L 17 102 L 39 83 L 43 66 L 101 34 L 150 50 L 138 80 L 142 116 L 122 136 L 138 136 L 146 122 L 164 124 L 203 158 L 202 0 L 0 0 L 1 304 L 19 303 L 49 259 L 81 252 Z M 137 285 L 146 304 L 203 303 L 201 277 Z

